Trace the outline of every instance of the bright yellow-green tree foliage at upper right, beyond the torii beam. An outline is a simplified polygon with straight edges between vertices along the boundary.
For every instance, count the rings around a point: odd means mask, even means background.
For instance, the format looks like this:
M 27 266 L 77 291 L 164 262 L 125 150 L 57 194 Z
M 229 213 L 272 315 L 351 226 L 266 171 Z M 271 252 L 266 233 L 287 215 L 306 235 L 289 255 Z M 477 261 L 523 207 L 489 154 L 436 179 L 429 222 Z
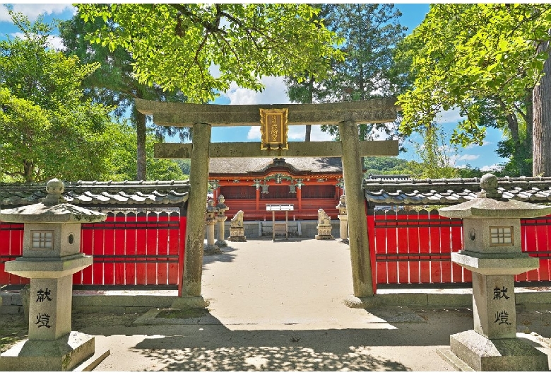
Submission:
M 451 142 L 482 144 L 487 126 L 507 128 L 522 169 L 532 142 L 531 94 L 547 58 L 538 45 L 550 29 L 550 4 L 432 5 L 400 49 L 415 76 L 398 97 L 401 132 L 427 129 L 439 112 L 457 108 L 466 120 Z

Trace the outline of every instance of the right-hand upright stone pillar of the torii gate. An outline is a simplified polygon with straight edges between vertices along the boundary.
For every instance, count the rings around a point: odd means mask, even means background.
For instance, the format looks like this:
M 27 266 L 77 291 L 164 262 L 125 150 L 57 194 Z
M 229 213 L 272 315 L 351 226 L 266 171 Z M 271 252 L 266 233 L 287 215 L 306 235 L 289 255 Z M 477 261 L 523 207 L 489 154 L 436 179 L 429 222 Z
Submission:
M 350 262 L 354 296 L 359 301 L 349 301 L 348 306 L 363 307 L 361 299 L 373 296 L 369 238 L 365 215 L 365 196 L 360 162 L 358 127 L 353 121 L 338 124 L 340 142 L 343 144 L 343 178 L 346 187 L 348 230 L 350 231 Z

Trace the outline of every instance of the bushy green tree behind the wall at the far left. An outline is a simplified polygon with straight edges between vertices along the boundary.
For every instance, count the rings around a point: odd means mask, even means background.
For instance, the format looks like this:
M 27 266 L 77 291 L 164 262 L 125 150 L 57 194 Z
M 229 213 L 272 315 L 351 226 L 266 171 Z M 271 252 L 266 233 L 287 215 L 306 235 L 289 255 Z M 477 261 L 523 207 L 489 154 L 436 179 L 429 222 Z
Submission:
M 109 110 L 83 100 L 97 65 L 49 49 L 52 28 L 10 11 L 24 37 L 0 42 L 0 178 L 96 179 L 109 157 Z

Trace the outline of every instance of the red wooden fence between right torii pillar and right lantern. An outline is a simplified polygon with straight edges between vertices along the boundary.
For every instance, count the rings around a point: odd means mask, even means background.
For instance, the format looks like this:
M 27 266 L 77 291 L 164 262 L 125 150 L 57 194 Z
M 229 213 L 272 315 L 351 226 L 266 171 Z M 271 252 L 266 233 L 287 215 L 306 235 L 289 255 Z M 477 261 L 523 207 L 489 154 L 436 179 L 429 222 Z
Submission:
M 378 211 L 368 217 L 377 284 L 470 282 L 470 271 L 452 263 L 463 246 L 463 221 L 436 211 Z M 372 234 L 371 234 L 372 233 Z

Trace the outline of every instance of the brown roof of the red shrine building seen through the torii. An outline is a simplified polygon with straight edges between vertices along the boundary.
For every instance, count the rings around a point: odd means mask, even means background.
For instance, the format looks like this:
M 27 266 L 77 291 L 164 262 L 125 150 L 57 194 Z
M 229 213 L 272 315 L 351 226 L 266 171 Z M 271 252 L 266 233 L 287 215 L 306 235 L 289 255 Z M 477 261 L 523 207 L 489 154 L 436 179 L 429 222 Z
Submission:
M 271 169 L 288 169 L 297 175 L 343 173 L 340 158 L 211 158 L 209 175 L 261 175 Z

